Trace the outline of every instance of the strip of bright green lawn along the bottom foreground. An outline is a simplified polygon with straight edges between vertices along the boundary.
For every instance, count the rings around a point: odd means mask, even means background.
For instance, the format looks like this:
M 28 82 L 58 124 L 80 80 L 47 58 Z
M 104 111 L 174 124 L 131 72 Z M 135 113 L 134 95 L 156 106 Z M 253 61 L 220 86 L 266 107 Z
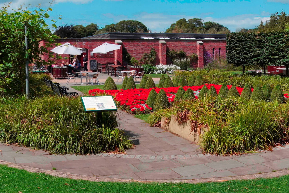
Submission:
M 202 184 L 90 182 L 0 165 L 0 192 L 288 192 L 289 175 Z

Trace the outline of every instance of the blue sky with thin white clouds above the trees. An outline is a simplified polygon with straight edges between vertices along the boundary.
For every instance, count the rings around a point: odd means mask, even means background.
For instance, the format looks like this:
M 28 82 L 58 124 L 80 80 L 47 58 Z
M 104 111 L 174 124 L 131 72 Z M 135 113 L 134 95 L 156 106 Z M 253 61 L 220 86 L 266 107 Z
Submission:
M 10 0 L 11 8 L 20 4 L 38 3 L 42 7 L 49 0 Z M 0 6 L 10 2 L 0 0 Z M 96 23 L 100 27 L 121 20 L 138 20 L 152 32 L 164 32 L 180 18 L 202 18 L 236 31 L 255 28 L 276 11 L 289 13 L 289 0 L 55 0 L 51 18 L 61 15 L 57 26 Z M 48 22 L 49 23 L 49 22 Z

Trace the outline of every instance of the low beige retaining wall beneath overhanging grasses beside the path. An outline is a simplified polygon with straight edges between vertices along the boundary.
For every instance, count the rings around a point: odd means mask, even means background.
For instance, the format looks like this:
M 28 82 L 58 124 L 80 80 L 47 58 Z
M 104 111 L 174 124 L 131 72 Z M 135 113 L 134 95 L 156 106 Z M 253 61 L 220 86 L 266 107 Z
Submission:
M 176 118 L 175 115 L 171 115 L 170 121 L 166 124 L 165 121 L 166 118 L 162 117 L 161 127 L 191 142 L 199 143 L 201 141 L 199 133 L 191 132 L 191 124 L 189 123 L 189 121 L 180 125 L 175 120 L 175 118 Z M 207 128 L 202 128 L 201 135 L 204 134 L 205 131 L 207 131 Z

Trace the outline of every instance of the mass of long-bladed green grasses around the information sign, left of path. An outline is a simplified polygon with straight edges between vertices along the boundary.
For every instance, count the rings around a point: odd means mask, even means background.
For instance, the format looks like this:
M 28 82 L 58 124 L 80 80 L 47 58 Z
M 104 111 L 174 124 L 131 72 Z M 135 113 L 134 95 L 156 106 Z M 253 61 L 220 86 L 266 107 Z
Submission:
M 10 99 L 0 104 L 0 141 L 18 143 L 52 154 L 95 154 L 131 148 L 117 128 L 115 112 L 85 113 L 81 98 L 44 96 Z

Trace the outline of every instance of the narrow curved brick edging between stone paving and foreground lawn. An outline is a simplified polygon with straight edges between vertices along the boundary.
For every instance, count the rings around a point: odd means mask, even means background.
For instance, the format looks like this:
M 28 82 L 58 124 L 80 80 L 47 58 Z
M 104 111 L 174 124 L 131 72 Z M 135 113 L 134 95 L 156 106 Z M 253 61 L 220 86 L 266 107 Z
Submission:
M 162 183 L 205 183 L 205 182 L 223 182 L 230 180 L 252 180 L 258 178 L 272 178 L 280 177 L 284 175 L 289 175 L 289 169 L 279 170 L 276 172 L 266 172 L 261 174 L 252 174 L 252 175 L 242 175 L 242 176 L 233 176 L 233 177 L 218 177 L 218 178 L 206 178 L 206 179 L 192 179 L 192 180 L 133 180 L 133 179 L 121 179 L 121 178 L 109 178 L 109 177 L 98 177 L 98 176 L 87 176 L 87 175 L 78 175 L 70 174 L 64 172 L 57 172 L 52 170 L 43 170 L 39 168 L 24 166 L 16 163 L 6 162 L 0 160 L 0 165 L 7 165 L 8 167 L 18 168 L 21 170 L 26 170 L 28 172 L 35 173 L 45 173 L 57 177 L 65 177 L 74 180 L 89 180 L 92 182 L 162 182 Z

